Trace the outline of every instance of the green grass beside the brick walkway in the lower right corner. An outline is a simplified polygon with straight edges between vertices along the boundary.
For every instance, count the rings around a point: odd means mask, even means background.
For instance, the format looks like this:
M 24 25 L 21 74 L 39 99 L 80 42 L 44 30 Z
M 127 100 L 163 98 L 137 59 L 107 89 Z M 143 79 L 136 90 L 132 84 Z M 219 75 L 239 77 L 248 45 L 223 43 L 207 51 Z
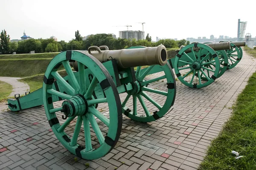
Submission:
M 247 51 L 246 48 L 244 48 Z M 250 53 L 252 54 L 252 53 Z M 256 50 L 253 51 L 256 57 Z M 239 94 L 233 115 L 219 136 L 212 141 L 200 170 L 255 170 L 256 169 L 256 73 Z M 239 152 L 235 159 L 232 150 Z

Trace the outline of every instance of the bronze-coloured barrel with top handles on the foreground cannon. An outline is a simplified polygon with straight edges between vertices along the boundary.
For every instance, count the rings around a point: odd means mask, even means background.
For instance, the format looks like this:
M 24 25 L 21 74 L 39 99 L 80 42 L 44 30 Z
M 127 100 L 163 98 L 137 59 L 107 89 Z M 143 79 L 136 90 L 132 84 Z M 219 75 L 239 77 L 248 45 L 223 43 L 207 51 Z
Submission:
M 102 51 L 101 49 L 104 47 L 106 50 Z M 130 68 L 143 65 L 165 65 L 167 62 L 167 51 L 164 45 L 121 50 L 108 50 L 107 46 L 90 46 L 87 53 L 93 55 L 93 57 L 98 59 L 100 62 L 116 59 L 120 68 Z M 71 62 L 70 65 L 78 71 L 76 62 Z

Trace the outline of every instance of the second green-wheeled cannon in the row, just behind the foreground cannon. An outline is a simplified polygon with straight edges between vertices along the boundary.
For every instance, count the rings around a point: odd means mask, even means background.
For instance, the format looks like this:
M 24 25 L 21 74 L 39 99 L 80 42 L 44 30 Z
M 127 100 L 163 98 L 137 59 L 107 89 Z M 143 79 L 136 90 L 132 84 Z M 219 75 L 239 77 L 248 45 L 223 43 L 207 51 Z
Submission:
M 136 46 L 136 48 L 145 47 Z M 174 68 L 177 78 L 184 85 L 190 88 L 203 88 L 223 74 L 221 65 L 227 66 L 227 57 L 222 59 L 222 56 L 227 56 L 224 50 L 229 49 L 231 49 L 230 42 L 192 43 L 181 46 L 168 58 L 168 62 Z M 218 52 L 216 52 L 217 50 Z M 150 74 L 154 72 L 157 72 L 157 69 L 153 68 Z

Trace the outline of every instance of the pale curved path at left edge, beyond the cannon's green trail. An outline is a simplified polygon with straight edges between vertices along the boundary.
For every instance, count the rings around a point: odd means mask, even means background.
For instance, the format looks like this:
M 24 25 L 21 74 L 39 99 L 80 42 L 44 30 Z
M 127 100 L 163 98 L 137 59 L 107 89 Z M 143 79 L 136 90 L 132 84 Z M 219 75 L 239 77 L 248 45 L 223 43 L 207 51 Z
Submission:
M 12 93 L 8 97 L 14 97 L 15 94 L 25 95 L 29 91 L 29 85 L 23 82 L 19 82 L 19 77 L 0 77 L 0 81 L 9 83 L 12 85 Z

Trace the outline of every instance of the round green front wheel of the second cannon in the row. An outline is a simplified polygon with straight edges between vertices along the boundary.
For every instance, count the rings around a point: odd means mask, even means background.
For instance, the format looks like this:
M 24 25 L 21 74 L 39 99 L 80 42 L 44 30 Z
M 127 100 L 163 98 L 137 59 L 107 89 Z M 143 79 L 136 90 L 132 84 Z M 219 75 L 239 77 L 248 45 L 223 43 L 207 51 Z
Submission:
M 196 48 L 194 51 L 194 47 L 200 49 Z M 185 51 L 189 49 L 190 52 L 186 53 Z M 206 87 L 218 77 L 220 60 L 217 56 L 216 52 L 208 45 L 200 43 L 186 45 L 175 57 L 175 74 L 180 82 L 188 87 Z

